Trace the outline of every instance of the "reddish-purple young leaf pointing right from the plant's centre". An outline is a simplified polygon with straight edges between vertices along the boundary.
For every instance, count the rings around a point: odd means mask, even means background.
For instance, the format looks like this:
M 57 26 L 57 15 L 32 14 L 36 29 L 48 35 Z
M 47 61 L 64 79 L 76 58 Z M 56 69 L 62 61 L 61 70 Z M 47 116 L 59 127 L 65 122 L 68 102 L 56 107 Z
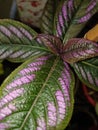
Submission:
M 98 44 L 84 38 L 70 39 L 63 47 L 62 58 L 71 64 L 95 56 L 98 56 Z

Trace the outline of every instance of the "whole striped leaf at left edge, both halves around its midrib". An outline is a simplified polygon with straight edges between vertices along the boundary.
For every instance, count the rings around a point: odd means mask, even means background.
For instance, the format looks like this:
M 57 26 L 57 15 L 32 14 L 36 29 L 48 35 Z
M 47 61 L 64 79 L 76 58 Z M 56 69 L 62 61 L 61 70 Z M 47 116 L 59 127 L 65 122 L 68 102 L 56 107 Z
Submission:
M 23 62 L 46 53 L 46 48 L 34 40 L 36 35 L 30 27 L 20 22 L 0 20 L 0 60 Z

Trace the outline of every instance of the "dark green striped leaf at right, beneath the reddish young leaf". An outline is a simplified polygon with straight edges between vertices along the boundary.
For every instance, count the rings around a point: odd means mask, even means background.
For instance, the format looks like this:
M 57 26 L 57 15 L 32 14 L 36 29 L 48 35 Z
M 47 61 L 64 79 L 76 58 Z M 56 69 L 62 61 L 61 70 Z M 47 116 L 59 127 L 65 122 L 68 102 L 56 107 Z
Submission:
M 98 91 L 98 57 L 74 63 L 72 66 L 84 84 Z

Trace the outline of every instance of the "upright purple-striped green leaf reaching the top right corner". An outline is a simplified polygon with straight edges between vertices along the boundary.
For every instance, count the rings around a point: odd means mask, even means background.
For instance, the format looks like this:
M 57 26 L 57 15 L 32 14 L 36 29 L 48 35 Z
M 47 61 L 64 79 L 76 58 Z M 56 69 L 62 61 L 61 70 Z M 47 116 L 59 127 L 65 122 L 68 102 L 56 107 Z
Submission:
M 64 43 L 75 37 L 98 11 L 98 0 L 64 0 L 57 12 L 56 35 Z

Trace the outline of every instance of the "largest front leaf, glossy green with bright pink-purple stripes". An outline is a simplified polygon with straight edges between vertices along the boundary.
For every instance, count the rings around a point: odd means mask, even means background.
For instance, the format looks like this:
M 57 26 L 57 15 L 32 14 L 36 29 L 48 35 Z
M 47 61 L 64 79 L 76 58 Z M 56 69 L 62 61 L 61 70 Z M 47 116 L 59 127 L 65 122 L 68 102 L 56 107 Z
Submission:
M 0 87 L 0 129 L 64 130 L 73 111 L 67 63 L 43 56 L 22 64 Z

